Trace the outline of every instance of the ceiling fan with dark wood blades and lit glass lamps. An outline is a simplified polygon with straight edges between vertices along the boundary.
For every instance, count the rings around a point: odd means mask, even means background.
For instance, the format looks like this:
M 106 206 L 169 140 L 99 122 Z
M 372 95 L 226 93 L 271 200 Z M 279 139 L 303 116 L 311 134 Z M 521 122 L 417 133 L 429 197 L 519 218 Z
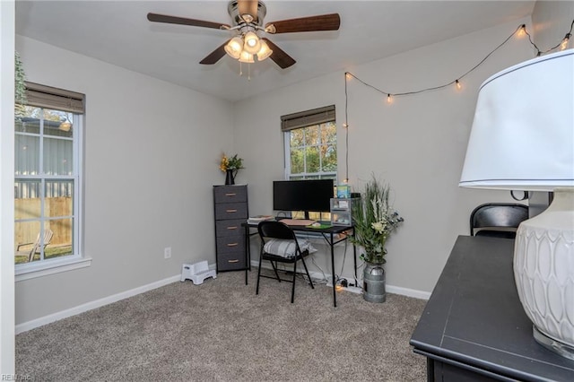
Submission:
M 258 34 L 338 30 L 341 24 L 339 14 L 330 13 L 278 22 L 267 22 L 263 26 L 267 8 L 262 1 L 257 0 L 232 0 L 227 5 L 227 12 L 231 17 L 231 25 L 158 13 L 147 13 L 147 19 L 150 22 L 191 25 L 236 32 L 235 36 L 205 56 L 199 64 L 213 65 L 227 53 L 229 56 L 238 59 L 239 62 L 244 63 L 253 63 L 256 59 L 257 61 L 263 61 L 265 58 L 270 57 L 275 64 L 283 69 L 295 64 L 296 61 L 271 40 L 259 37 Z

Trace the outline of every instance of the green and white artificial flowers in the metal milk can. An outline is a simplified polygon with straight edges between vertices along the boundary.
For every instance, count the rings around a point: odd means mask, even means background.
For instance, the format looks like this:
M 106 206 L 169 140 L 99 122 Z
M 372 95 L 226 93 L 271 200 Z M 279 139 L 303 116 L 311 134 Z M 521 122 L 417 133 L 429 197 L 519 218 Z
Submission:
M 361 201 L 352 205 L 354 244 L 364 248 L 361 259 L 385 264 L 385 244 L 390 234 L 404 221 L 389 204 L 390 187 L 373 178 L 365 185 Z

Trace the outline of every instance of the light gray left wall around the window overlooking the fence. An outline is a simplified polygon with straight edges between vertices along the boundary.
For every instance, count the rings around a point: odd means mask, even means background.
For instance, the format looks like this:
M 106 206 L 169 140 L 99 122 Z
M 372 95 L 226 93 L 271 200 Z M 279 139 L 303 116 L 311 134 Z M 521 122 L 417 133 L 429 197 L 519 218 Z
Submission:
M 86 94 L 83 252 L 92 258 L 16 282 L 16 323 L 168 279 L 184 263 L 213 264 L 212 185 L 233 148 L 230 103 L 36 40 L 18 36 L 16 46 L 29 81 Z

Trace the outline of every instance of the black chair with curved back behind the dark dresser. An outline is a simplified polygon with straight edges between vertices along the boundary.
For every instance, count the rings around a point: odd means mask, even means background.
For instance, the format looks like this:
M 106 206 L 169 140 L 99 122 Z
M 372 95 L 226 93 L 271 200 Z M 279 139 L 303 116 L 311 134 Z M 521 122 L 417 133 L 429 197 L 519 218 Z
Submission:
M 470 236 L 515 239 L 518 225 L 528 219 L 528 206 L 516 203 L 486 203 L 470 214 Z

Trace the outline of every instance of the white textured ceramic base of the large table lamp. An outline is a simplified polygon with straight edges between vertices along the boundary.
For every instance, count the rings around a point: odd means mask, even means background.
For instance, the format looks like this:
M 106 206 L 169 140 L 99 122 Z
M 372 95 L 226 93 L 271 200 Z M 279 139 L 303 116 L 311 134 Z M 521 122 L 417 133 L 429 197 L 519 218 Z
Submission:
M 517 230 L 514 278 L 538 343 L 574 360 L 574 188 Z

